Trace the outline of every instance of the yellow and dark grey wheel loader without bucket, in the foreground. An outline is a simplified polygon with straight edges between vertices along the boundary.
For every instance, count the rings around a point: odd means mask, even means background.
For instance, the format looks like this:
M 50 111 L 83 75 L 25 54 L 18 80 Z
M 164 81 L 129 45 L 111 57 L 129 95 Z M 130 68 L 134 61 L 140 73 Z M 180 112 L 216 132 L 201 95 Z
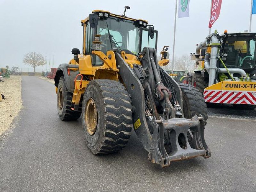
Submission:
M 127 8 L 127 7 L 126 7 Z M 61 120 L 81 116 L 84 138 L 93 154 L 124 148 L 134 129 L 148 160 L 168 166 L 197 156 L 208 158 L 204 139 L 207 108 L 201 93 L 178 84 L 157 60 L 158 31 L 141 19 L 95 10 L 81 21 L 83 48 L 56 72 Z

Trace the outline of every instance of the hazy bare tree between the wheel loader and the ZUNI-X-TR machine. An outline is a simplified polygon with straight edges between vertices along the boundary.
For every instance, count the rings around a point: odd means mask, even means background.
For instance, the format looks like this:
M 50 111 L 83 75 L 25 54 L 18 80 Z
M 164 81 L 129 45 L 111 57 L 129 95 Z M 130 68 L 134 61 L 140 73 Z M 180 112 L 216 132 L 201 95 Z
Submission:
M 194 61 L 190 60 L 189 55 L 182 55 L 175 57 L 174 68 L 177 70 L 192 70 L 194 68 Z

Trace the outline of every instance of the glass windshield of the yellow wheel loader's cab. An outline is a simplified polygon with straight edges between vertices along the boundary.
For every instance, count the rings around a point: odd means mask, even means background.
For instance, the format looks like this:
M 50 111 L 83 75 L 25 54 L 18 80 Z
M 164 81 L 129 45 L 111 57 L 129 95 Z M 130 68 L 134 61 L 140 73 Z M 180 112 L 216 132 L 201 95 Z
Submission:
M 131 20 L 109 17 L 107 20 L 99 20 L 97 34 L 100 34 L 102 52 L 106 53 L 113 47 L 126 54 L 137 55 L 139 53 L 140 28 Z M 112 40 L 109 35 L 112 36 Z

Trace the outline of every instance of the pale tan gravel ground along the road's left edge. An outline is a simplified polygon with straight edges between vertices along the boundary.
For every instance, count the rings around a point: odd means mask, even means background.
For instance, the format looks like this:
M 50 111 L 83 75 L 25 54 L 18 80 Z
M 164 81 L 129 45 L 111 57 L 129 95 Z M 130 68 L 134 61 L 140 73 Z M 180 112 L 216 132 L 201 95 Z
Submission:
M 0 94 L 3 94 L 6 99 L 0 102 L 0 135 L 15 123 L 12 121 L 22 107 L 21 76 L 11 76 L 3 80 L 4 82 L 0 82 Z

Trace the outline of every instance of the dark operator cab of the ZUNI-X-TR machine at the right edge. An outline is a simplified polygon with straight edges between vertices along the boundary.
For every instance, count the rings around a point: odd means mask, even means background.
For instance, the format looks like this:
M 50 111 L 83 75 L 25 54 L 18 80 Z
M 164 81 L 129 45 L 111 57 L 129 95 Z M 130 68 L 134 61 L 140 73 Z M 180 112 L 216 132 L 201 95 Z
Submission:
M 220 38 L 224 45 L 221 48 L 222 60 L 227 68 L 241 68 L 245 72 L 255 69 L 256 33 L 226 33 Z M 221 63 L 219 65 L 223 68 Z

